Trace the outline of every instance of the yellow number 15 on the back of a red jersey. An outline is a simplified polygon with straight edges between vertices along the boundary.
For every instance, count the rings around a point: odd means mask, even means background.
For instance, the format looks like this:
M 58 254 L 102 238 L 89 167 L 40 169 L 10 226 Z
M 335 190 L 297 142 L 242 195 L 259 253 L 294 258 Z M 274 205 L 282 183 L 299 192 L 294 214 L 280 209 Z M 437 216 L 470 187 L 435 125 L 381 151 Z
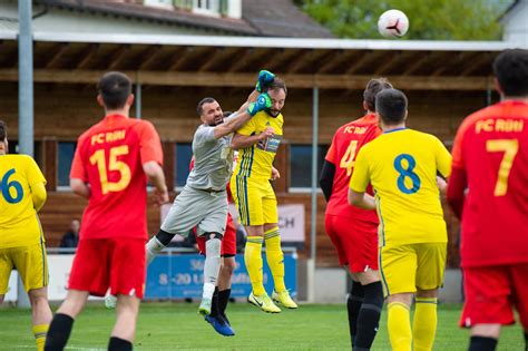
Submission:
M 104 149 L 95 152 L 90 156 L 90 163 L 97 165 L 99 170 L 99 181 L 101 183 L 101 193 L 106 195 L 110 192 L 120 192 L 130 184 L 130 167 L 117 157 L 128 155 L 128 145 L 115 146 L 110 148 L 110 157 L 108 160 L 108 169 L 106 163 L 106 155 Z M 118 182 L 108 181 L 108 172 L 119 172 Z

